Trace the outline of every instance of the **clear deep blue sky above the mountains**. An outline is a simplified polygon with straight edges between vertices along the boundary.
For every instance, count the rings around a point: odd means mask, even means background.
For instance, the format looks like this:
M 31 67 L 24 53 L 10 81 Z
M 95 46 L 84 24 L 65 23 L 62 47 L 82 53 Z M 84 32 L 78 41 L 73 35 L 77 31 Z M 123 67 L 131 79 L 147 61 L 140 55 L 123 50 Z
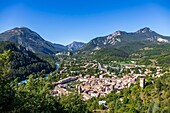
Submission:
M 0 32 L 25 26 L 64 45 L 143 27 L 170 36 L 169 4 L 169 0 L 0 0 Z

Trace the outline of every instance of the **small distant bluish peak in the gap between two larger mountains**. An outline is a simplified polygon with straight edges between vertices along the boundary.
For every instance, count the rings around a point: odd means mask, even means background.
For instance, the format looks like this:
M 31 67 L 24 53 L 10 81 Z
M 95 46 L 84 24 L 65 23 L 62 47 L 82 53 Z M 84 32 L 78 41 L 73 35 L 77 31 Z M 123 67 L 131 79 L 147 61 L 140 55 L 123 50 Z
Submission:
M 67 49 L 68 51 L 76 51 L 78 50 L 79 48 L 81 48 L 85 43 L 83 42 L 72 42 L 71 44 L 67 45 Z

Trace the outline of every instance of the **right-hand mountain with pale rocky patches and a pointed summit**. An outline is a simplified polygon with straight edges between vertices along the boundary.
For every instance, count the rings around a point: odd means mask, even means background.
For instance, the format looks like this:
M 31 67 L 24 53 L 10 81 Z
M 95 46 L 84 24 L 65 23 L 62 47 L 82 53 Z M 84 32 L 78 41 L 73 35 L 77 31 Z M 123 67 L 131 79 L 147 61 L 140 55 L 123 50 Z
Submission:
M 136 32 L 116 31 L 113 34 L 97 37 L 85 44 L 81 50 L 98 50 L 106 46 L 122 46 L 132 42 L 170 43 L 170 37 L 162 36 L 145 27 Z

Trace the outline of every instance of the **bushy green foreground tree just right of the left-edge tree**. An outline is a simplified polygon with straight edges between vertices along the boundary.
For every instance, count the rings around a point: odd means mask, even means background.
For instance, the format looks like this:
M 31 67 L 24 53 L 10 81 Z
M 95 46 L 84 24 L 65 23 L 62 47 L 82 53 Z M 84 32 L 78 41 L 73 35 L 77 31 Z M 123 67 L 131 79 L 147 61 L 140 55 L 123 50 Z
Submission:
M 30 75 L 28 82 L 16 87 L 18 101 L 17 112 L 56 112 L 60 111 L 58 100 L 50 94 L 50 84 L 39 77 L 33 79 Z

